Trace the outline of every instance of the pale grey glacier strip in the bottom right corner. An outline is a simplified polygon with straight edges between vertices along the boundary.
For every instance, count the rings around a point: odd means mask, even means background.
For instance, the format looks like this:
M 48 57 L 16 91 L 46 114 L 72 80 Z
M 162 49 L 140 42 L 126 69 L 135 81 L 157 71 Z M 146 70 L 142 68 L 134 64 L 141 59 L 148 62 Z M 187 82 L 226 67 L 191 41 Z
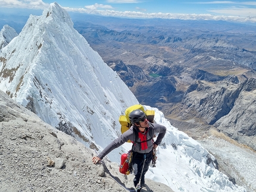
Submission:
M 231 143 L 227 137 L 223 139 L 223 136 L 211 136 L 199 142 L 219 159 L 220 170 L 229 169 L 229 174 L 235 178 L 238 185 L 244 186 L 247 191 L 256 191 L 254 150 L 236 142 Z

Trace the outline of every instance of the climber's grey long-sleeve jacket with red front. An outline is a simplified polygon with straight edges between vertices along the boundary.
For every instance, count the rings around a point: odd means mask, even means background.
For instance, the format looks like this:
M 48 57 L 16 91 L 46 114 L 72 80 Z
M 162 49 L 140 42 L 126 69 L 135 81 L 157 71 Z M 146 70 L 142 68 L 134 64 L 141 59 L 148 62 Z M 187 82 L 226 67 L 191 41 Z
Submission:
M 154 124 L 150 122 L 148 122 L 148 124 L 149 128 L 146 128 L 145 134 L 138 133 L 137 127 L 130 127 L 130 129 L 121 134 L 120 137 L 108 144 L 108 146 L 105 147 L 105 149 L 101 153 L 99 153 L 98 157 L 100 159 L 103 159 L 106 155 L 108 155 L 108 153 L 110 153 L 115 148 L 121 146 L 128 140 L 132 141 L 133 143 L 133 151 L 138 153 L 151 152 L 151 150 L 153 149 L 152 136 L 155 133 L 159 133 L 157 136 L 157 140 L 155 140 L 154 142 L 155 144 L 159 145 L 163 140 L 164 135 L 166 134 L 166 127 L 160 124 Z M 137 134 L 137 136 L 135 136 L 135 134 Z

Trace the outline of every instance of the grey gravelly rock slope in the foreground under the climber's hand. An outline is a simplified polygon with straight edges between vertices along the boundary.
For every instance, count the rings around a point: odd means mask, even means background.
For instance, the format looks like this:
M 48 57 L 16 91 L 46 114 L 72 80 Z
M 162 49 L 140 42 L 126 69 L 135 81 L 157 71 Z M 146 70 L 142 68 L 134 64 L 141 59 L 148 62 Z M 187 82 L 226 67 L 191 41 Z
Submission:
M 94 165 L 95 152 L 71 136 L 41 121 L 0 91 L 0 191 L 126 191 Z M 126 187 L 117 163 L 105 162 Z M 146 180 L 151 190 L 172 191 L 164 184 Z

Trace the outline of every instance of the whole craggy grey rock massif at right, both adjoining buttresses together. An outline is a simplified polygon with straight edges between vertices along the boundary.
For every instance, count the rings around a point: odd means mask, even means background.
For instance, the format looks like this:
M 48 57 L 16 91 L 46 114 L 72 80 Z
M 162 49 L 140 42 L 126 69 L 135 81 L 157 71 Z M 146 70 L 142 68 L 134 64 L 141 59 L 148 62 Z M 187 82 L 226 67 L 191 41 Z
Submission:
M 171 111 L 174 118 L 214 125 L 232 139 L 256 150 L 256 78 L 241 84 L 197 81 L 188 90 L 180 107 Z

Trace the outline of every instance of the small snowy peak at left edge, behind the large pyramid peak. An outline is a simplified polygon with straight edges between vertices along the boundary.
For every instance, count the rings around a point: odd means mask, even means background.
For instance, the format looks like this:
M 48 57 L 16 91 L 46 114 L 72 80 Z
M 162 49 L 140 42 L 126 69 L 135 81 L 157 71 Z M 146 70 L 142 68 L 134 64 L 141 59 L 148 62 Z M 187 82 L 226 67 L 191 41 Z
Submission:
M 2 28 L 0 32 L 0 53 L 1 53 L 1 49 L 7 46 L 8 43 L 10 43 L 11 40 L 16 36 L 18 36 L 18 34 L 15 32 L 15 30 L 12 27 L 5 25 Z

